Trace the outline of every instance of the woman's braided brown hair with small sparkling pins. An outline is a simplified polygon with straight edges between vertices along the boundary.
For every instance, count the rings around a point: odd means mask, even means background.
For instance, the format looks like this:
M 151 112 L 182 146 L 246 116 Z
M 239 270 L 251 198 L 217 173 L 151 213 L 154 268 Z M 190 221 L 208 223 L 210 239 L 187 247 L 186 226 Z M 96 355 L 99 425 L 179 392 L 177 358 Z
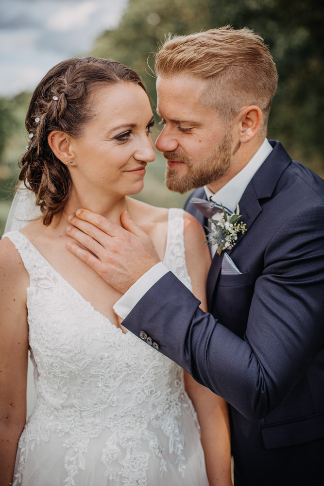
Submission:
M 93 116 L 90 94 L 99 87 L 122 82 L 137 84 L 147 93 L 135 71 L 98 57 L 63 61 L 36 87 L 25 121 L 30 143 L 19 160 L 19 180 L 35 193 L 45 226 L 62 212 L 72 186 L 68 168 L 51 151 L 49 134 L 58 130 L 81 137 Z

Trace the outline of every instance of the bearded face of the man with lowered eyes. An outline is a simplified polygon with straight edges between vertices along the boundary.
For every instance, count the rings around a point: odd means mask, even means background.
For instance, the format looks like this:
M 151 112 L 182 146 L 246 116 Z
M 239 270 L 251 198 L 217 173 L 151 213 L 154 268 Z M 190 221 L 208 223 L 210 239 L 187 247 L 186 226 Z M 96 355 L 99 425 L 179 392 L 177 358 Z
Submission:
M 164 128 L 156 140 L 167 162 L 166 185 L 184 193 L 224 176 L 233 157 L 232 127 L 203 102 L 204 80 L 158 76 L 157 112 Z

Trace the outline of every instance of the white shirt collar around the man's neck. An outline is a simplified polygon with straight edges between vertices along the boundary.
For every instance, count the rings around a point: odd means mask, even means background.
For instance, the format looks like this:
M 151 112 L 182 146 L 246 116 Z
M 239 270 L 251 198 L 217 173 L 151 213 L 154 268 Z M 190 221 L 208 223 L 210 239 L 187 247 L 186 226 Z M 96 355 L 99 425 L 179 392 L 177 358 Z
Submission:
M 235 210 L 236 203 L 239 202 L 250 180 L 263 164 L 265 159 L 270 155 L 273 148 L 270 145 L 268 139 L 264 139 L 260 148 L 256 151 L 255 155 L 246 164 L 243 169 L 236 174 L 230 181 L 227 182 L 219 191 L 215 194 L 204 186 L 207 199 L 222 203 L 232 211 Z

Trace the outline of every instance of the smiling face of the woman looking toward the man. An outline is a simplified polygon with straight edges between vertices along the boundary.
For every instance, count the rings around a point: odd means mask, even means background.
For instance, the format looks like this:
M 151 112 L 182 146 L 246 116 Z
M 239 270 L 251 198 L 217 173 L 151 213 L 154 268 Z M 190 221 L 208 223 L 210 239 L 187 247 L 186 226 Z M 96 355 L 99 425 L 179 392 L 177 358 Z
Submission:
M 155 159 L 145 91 L 134 83 L 100 87 L 91 110 L 83 135 L 69 141 L 74 189 L 94 190 L 98 197 L 136 194 L 143 189 L 146 164 Z

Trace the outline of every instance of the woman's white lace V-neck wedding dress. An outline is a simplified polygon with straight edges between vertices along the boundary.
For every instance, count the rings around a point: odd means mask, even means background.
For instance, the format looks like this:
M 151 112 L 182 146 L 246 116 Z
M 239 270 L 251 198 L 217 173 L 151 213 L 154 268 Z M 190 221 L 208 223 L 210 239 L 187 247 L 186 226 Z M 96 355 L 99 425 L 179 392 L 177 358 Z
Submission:
M 30 275 L 37 391 L 13 485 L 207 486 L 182 369 L 95 311 L 22 233 L 3 237 Z M 190 288 L 182 209 L 169 210 L 164 263 Z

